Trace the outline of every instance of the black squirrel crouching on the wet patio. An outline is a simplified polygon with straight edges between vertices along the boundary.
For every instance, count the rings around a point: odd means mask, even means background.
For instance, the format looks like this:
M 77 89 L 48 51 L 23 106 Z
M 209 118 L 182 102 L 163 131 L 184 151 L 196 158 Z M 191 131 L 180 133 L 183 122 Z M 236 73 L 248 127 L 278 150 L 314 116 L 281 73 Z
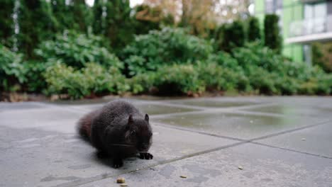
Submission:
M 153 155 L 148 153 L 153 137 L 149 115 L 143 116 L 126 101 L 111 101 L 84 115 L 77 130 L 99 152 L 113 157 L 115 168 L 123 165 L 123 158 L 138 153 L 140 159 L 153 159 Z

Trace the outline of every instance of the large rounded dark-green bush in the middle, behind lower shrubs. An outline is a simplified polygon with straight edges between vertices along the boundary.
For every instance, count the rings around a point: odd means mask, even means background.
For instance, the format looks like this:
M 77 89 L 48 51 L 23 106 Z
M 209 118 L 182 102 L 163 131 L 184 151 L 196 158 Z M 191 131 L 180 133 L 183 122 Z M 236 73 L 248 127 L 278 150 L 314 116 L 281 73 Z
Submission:
M 136 36 L 123 50 L 123 57 L 126 57 L 128 73 L 133 76 L 155 71 L 165 64 L 205 60 L 211 52 L 212 47 L 206 40 L 179 28 L 163 28 Z

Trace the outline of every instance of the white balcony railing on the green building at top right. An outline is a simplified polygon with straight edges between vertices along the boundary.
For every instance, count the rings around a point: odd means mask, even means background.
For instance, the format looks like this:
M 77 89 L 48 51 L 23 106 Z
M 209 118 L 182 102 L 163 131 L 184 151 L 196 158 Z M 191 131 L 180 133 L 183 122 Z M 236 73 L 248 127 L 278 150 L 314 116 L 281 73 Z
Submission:
M 294 21 L 289 26 L 289 37 L 332 32 L 332 15 L 323 18 Z

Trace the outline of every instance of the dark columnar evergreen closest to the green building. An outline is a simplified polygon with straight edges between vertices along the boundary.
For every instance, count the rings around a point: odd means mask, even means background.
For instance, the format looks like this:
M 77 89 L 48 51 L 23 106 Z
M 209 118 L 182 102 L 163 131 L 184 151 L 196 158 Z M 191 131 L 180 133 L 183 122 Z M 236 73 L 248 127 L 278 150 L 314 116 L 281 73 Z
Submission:
M 264 41 L 265 46 L 270 47 L 277 53 L 282 51 L 282 37 L 278 26 L 279 16 L 276 14 L 267 14 L 264 18 Z

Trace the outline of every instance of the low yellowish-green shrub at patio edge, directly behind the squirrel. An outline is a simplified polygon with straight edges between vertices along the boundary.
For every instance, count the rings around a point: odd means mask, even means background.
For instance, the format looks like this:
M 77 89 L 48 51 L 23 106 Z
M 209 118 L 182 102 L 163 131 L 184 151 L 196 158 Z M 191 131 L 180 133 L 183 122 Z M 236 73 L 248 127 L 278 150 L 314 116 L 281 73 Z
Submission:
M 70 98 L 83 98 L 91 94 L 121 94 L 129 89 L 125 77 L 118 69 L 106 69 L 100 64 L 87 63 L 87 67 L 75 70 L 62 62 L 56 62 L 44 74 L 48 84 L 46 94 L 68 94 Z

